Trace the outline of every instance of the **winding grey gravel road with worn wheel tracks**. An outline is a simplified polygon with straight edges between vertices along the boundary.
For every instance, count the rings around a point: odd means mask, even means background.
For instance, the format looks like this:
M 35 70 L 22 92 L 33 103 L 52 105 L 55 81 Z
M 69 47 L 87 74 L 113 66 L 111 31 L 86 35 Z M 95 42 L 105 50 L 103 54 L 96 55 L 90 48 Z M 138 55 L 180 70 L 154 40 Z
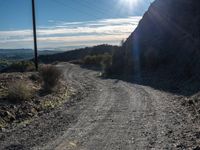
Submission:
M 169 150 L 200 144 L 179 96 L 101 79 L 96 71 L 68 63 L 59 67 L 78 94 L 29 125 L 1 133 L 0 149 Z

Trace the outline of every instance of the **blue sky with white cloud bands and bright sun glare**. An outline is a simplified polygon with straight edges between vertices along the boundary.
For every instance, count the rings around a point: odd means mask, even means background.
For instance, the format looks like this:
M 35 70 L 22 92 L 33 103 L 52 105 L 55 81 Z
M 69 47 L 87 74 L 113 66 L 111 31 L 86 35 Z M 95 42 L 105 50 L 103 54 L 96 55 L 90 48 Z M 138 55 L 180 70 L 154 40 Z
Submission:
M 152 0 L 35 0 L 39 49 L 119 45 Z M 33 48 L 31 0 L 0 0 L 0 49 Z

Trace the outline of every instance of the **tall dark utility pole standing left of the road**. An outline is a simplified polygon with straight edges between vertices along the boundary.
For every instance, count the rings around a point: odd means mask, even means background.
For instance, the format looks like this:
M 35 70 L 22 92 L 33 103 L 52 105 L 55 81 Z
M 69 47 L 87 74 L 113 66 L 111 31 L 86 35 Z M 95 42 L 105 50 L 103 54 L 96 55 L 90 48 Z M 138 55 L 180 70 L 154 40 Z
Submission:
M 36 19 L 35 19 L 35 0 L 32 0 L 32 16 L 33 16 L 33 40 L 35 52 L 35 69 L 38 71 L 38 50 L 37 50 L 37 33 L 36 33 Z

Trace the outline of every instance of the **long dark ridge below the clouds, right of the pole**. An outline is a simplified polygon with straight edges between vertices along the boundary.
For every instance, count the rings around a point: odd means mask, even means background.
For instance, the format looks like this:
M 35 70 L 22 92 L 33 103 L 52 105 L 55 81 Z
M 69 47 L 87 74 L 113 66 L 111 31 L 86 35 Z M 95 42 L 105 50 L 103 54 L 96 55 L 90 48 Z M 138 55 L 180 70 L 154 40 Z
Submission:
M 94 47 L 80 48 L 76 50 L 66 51 L 63 53 L 52 54 L 52 55 L 41 55 L 39 56 L 39 61 L 43 63 L 52 63 L 54 61 L 72 61 L 83 59 L 87 55 L 98 55 L 109 53 L 111 54 L 113 50 L 118 49 L 118 46 L 111 45 L 98 45 Z

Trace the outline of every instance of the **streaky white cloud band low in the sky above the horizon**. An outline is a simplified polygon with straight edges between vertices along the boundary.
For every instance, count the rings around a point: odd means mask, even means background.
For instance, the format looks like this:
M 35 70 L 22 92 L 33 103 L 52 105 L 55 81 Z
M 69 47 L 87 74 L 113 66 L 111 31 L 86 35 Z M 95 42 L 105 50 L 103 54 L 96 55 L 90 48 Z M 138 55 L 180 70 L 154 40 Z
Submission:
M 141 17 L 101 19 L 85 22 L 49 20 L 39 26 L 38 46 L 44 48 L 119 44 L 137 27 Z M 0 31 L 0 48 L 32 48 L 32 30 Z

